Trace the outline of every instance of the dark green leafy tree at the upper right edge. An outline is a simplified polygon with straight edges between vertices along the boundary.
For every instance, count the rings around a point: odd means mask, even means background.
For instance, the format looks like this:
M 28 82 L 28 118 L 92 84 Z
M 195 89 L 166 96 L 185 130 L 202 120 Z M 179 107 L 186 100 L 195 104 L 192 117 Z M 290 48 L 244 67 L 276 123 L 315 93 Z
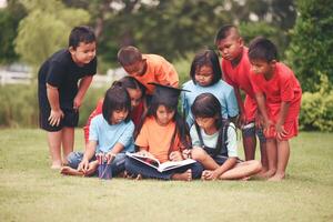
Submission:
M 319 91 L 321 75 L 333 83 L 333 1 L 299 0 L 287 58 L 303 91 Z

